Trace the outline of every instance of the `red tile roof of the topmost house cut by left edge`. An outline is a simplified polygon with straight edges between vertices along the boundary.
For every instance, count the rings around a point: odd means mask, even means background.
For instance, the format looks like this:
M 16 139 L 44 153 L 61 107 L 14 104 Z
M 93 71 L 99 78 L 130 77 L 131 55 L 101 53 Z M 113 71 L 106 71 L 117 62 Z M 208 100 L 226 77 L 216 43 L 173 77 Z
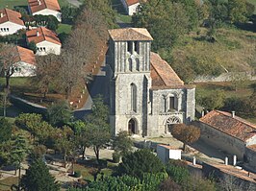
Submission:
M 10 21 L 15 24 L 24 26 L 24 22 L 20 19 L 21 14 L 19 12 L 14 12 L 13 10 L 9 9 L 3 9 L 0 10 L 0 14 L 3 16 L 0 16 L 0 24 Z

